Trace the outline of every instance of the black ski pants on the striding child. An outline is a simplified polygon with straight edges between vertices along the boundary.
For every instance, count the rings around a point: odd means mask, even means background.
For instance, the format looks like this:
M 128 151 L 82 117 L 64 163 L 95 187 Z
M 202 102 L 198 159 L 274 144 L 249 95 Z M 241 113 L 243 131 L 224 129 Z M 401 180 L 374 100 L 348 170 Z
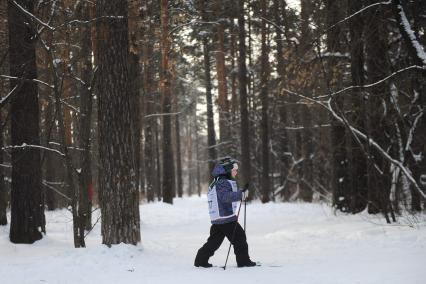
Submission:
M 210 236 L 207 242 L 198 250 L 195 262 L 199 264 L 207 263 L 209 258 L 220 247 L 225 237 L 234 246 L 237 264 L 243 265 L 247 263 L 250 257 L 248 254 L 246 233 L 237 221 L 226 224 L 213 224 L 210 227 Z

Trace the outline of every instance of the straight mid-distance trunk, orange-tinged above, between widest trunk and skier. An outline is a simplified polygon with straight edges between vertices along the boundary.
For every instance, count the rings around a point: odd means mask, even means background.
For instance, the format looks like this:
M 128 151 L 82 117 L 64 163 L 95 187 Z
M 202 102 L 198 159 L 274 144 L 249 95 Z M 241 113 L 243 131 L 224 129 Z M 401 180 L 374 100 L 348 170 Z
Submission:
M 175 170 L 172 146 L 172 99 L 170 92 L 170 39 L 169 39 L 169 16 L 168 0 L 161 0 L 161 73 L 160 86 L 163 98 L 163 202 L 173 204 Z

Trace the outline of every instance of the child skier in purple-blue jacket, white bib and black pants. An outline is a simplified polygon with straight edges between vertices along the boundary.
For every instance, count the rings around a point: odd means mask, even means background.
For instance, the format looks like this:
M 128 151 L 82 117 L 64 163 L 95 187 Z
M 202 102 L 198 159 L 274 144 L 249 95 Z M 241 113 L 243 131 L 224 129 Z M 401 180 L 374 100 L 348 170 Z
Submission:
M 250 260 L 246 233 L 238 223 L 236 215 L 237 203 L 241 200 L 242 193 L 248 189 L 248 184 L 243 189 L 237 188 L 235 181 L 237 170 L 238 164 L 231 158 L 221 160 L 213 169 L 214 179 L 207 194 L 212 226 L 207 242 L 198 250 L 195 257 L 196 267 L 212 267 L 208 260 L 225 237 L 234 246 L 238 267 L 256 266 L 256 263 Z

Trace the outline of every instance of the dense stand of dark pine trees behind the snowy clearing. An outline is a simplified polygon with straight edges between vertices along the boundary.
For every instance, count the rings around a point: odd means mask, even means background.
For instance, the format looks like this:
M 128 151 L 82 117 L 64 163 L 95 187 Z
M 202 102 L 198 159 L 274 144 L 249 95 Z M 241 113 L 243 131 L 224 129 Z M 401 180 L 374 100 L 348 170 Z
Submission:
M 201 194 L 218 158 L 250 199 L 426 207 L 424 1 L 0 3 L 0 224 L 140 241 L 141 201 Z M 143 218 L 143 216 L 142 216 Z

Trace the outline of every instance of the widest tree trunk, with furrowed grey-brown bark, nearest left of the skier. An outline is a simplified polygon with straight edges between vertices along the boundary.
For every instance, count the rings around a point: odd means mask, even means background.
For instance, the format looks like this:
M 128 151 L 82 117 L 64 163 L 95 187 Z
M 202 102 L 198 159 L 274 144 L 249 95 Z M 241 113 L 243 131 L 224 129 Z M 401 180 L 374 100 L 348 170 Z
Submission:
M 139 192 L 132 143 L 127 1 L 99 0 L 97 95 L 102 243 L 140 241 Z M 111 18 L 111 17 L 115 18 Z

